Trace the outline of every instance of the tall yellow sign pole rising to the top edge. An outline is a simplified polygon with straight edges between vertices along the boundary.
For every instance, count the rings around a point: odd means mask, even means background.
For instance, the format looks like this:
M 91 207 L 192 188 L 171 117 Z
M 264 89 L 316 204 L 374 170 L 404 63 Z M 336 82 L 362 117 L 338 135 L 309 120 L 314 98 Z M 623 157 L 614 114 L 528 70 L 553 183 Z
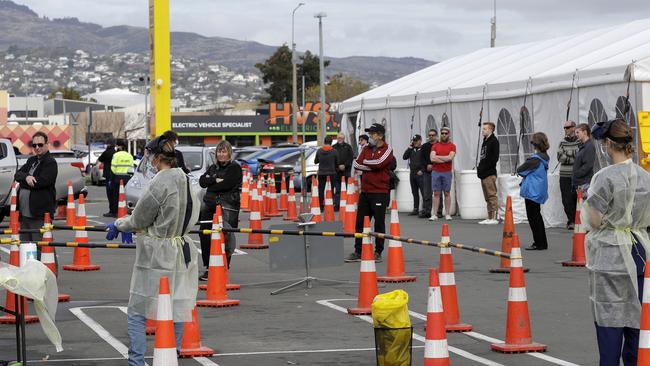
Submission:
M 171 129 L 171 61 L 169 0 L 149 0 L 149 78 L 151 119 L 155 136 Z

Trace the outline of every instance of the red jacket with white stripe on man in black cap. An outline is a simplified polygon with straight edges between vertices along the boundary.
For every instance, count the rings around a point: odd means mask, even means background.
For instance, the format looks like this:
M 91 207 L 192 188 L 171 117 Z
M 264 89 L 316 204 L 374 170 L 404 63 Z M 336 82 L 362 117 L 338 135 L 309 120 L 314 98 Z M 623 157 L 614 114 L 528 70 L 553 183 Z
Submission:
M 393 149 L 384 143 L 381 147 L 370 146 L 361 150 L 357 160 L 352 164 L 363 174 L 361 175 L 361 192 L 389 193 L 388 174 L 393 162 Z

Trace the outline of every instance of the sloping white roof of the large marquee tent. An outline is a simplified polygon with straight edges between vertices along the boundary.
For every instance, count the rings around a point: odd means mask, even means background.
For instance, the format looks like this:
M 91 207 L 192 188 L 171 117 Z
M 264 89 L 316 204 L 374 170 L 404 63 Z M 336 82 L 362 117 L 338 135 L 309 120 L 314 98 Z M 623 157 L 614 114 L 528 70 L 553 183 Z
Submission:
M 484 48 L 432 65 L 341 104 L 341 112 L 522 96 L 526 91 L 650 81 L 650 19 L 512 46 Z M 416 99 L 417 95 L 417 99 Z

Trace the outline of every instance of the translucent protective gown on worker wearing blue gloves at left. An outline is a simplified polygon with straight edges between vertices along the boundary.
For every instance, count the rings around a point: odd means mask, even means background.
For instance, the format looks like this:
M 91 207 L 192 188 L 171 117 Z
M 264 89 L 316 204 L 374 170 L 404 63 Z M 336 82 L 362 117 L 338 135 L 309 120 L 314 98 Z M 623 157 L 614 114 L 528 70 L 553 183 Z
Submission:
M 188 188 L 188 178 L 181 169 L 162 170 L 145 188 L 133 213 L 115 222 L 120 231 L 137 233 L 129 314 L 155 319 L 160 276 L 167 276 L 174 322 L 192 321 L 198 289 L 198 252 L 185 234 L 196 223 L 201 202 L 190 189 L 192 213 L 182 232 Z M 190 248 L 191 261 L 187 266 L 183 240 Z

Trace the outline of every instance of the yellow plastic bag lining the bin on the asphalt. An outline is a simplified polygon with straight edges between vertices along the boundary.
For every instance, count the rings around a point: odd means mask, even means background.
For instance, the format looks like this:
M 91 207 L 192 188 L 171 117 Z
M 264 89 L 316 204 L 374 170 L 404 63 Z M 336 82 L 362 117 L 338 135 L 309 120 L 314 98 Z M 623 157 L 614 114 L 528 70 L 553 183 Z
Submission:
M 375 296 L 372 301 L 372 321 L 375 328 L 410 328 L 409 295 L 395 290 Z

